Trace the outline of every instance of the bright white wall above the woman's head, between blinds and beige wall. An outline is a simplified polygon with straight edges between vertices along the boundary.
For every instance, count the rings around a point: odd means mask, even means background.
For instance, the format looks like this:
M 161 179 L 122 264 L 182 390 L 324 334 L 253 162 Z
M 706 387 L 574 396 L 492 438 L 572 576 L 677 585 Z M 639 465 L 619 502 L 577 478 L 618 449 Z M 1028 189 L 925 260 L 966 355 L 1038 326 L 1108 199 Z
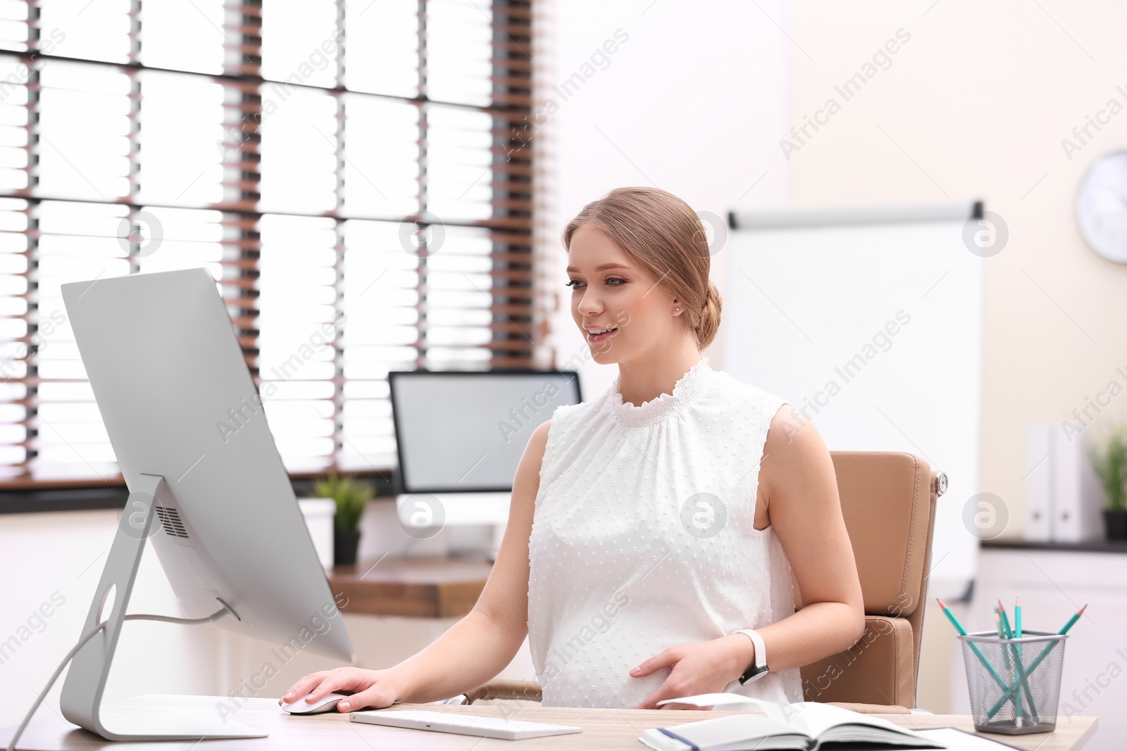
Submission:
M 561 366 L 586 350 L 568 310 L 559 240 L 584 204 L 612 188 L 646 185 L 720 217 L 783 205 L 787 170 L 774 163 L 773 137 L 787 122 L 789 43 L 775 26 L 788 24 L 782 0 L 569 0 L 552 10 L 543 104 L 552 98 L 559 110 L 536 137 L 550 160 L 543 250 L 554 263 L 547 276 L 548 289 L 559 295 L 552 325 Z M 583 75 L 592 53 L 619 29 L 629 36 L 605 70 L 596 69 L 566 100 L 559 96 L 552 87 Z M 729 294 L 719 267 L 718 259 L 713 281 Z M 722 336 L 721 327 L 706 352 L 718 367 Z M 585 396 L 601 393 L 616 372 L 588 363 L 580 370 Z

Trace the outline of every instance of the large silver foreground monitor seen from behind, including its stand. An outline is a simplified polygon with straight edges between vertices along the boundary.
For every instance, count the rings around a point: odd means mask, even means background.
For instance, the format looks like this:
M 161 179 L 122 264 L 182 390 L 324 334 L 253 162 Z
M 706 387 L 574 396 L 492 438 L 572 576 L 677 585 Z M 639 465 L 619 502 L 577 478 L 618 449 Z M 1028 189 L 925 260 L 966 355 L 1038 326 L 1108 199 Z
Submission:
M 140 274 L 62 296 L 130 489 L 82 633 L 105 629 L 74 656 L 63 716 L 115 741 L 265 735 L 214 714 L 114 724 L 101 712 L 145 540 L 187 617 L 224 610 L 221 628 L 353 656 L 216 281 L 202 268 Z

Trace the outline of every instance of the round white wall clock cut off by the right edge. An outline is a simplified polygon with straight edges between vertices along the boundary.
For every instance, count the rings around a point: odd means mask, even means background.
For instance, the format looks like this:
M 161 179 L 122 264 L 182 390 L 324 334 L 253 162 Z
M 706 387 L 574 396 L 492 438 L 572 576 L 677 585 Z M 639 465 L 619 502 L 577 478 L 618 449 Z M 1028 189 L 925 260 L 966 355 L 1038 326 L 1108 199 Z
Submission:
M 1101 157 L 1088 169 L 1076 191 L 1076 224 L 1092 250 L 1127 263 L 1127 152 Z

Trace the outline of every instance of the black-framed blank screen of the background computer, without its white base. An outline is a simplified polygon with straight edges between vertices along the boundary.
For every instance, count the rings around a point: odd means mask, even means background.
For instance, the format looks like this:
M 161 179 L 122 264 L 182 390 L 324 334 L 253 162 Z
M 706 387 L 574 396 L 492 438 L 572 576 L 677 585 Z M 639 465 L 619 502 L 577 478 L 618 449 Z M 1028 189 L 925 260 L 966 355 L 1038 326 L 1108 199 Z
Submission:
M 536 426 L 578 404 L 567 370 L 388 374 L 405 493 L 509 492 Z

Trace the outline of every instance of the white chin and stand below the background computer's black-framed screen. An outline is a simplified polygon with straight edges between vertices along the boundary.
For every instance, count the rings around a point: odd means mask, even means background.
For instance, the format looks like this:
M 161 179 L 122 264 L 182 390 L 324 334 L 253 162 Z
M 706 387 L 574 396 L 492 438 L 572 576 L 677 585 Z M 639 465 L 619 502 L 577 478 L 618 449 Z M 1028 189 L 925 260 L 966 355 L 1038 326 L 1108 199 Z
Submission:
M 443 530 L 450 555 L 496 560 L 508 522 L 511 493 L 401 493 L 399 524 L 408 535 L 428 539 Z

